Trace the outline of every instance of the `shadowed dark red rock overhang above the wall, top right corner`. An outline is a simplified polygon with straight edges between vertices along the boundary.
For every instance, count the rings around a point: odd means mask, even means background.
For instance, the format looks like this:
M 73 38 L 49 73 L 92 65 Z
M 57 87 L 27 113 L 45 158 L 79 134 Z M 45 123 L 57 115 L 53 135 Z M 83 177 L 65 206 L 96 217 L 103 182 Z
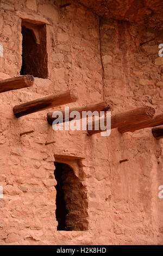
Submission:
M 102 17 L 163 29 L 162 0 L 78 0 L 78 2 Z

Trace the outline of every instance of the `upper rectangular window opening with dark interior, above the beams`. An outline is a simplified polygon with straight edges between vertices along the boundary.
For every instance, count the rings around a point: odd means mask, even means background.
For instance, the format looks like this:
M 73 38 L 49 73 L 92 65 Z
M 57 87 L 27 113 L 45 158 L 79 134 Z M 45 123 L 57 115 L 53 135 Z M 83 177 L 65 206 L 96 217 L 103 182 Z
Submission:
M 46 25 L 22 21 L 22 67 L 20 75 L 47 78 Z

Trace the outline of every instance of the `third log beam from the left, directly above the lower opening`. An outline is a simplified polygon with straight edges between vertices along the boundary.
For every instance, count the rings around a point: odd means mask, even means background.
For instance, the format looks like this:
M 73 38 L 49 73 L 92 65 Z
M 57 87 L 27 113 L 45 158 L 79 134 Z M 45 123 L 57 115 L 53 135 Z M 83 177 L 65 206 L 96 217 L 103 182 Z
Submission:
M 97 103 L 97 104 L 92 104 L 92 105 L 87 105 L 87 106 L 84 106 L 84 107 L 74 107 L 74 108 L 70 108 L 69 109 L 69 113 L 71 113 L 72 111 L 78 111 L 80 113 L 80 115 L 82 114 L 83 111 L 107 111 L 110 109 L 110 111 L 113 110 L 113 107 L 114 107 L 114 103 L 111 101 L 111 100 L 106 100 L 106 101 L 102 101 L 100 103 Z M 62 111 L 62 115 L 63 115 L 63 121 L 68 121 L 68 120 L 65 120 L 65 111 L 63 110 Z M 57 119 L 57 118 L 53 118 L 53 112 L 48 112 L 47 113 L 47 121 L 49 124 L 53 124 L 53 121 Z M 73 118 L 69 118 L 69 121 L 73 120 Z

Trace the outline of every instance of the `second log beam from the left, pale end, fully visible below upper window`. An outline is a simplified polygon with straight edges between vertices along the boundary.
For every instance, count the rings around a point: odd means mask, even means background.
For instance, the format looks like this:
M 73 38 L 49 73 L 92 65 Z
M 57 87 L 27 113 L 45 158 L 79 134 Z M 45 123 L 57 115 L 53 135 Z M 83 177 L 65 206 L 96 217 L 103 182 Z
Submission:
M 67 103 L 75 102 L 78 99 L 78 93 L 76 90 L 67 90 L 64 93 L 42 97 L 41 99 L 32 100 L 20 105 L 16 105 L 13 108 L 13 112 L 16 117 L 22 117 L 30 113 L 42 111 L 47 108 L 61 106 Z

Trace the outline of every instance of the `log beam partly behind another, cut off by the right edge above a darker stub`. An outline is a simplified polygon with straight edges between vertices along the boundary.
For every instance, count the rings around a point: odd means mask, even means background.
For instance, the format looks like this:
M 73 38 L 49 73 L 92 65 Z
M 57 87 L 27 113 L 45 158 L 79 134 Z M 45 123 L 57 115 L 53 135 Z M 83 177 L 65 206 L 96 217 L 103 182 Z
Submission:
M 118 131 L 121 133 L 124 132 L 134 132 L 137 130 L 145 129 L 148 127 L 158 126 L 163 124 L 163 114 L 156 115 L 153 119 L 148 119 L 145 121 L 137 122 L 135 124 L 125 125 L 118 127 Z

